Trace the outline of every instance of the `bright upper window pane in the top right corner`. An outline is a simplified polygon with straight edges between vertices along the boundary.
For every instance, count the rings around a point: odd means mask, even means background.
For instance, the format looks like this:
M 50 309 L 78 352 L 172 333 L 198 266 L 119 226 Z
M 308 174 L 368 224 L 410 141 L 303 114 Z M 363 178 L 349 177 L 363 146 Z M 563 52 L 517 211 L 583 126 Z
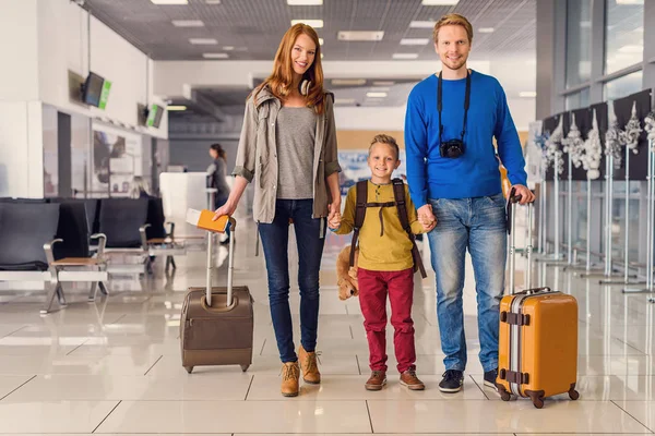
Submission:
M 607 0 L 605 74 L 644 60 L 644 0 Z

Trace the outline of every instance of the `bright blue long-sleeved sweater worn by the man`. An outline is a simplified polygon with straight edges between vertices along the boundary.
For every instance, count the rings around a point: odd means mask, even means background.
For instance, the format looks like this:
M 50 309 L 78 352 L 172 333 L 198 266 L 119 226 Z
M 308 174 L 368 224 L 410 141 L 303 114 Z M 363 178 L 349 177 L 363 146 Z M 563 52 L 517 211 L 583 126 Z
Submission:
M 472 71 L 465 153 L 458 158 L 439 153 L 437 75 L 418 83 L 407 100 L 405 153 L 407 182 L 417 208 L 428 198 L 469 198 L 500 193 L 498 155 L 512 184 L 526 184 L 525 160 L 504 90 L 495 77 Z M 466 78 L 443 81 L 443 141 L 460 138 L 464 122 Z

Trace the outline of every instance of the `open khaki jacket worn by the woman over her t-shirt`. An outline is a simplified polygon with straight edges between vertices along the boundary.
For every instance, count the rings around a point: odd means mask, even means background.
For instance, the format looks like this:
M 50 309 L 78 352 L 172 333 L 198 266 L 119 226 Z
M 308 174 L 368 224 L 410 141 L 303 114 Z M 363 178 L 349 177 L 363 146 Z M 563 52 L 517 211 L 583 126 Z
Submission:
M 325 94 L 325 109 L 317 114 L 313 158 L 313 213 L 312 218 L 327 216 L 331 199 L 325 181 L 327 175 L 341 171 L 336 150 L 334 124 L 334 95 Z M 251 96 L 246 102 L 246 116 L 239 138 L 237 161 L 233 175 L 254 181 L 252 215 L 255 221 L 273 222 L 277 198 L 277 144 L 275 123 L 282 102 L 267 87 L 261 89 L 257 100 Z

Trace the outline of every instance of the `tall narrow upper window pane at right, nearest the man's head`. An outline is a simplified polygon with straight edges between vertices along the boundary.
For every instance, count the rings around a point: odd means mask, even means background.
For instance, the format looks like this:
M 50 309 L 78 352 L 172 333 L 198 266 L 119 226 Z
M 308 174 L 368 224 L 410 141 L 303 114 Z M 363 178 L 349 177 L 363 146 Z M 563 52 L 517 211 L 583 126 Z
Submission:
M 592 39 L 591 0 L 567 2 L 567 87 L 590 80 Z

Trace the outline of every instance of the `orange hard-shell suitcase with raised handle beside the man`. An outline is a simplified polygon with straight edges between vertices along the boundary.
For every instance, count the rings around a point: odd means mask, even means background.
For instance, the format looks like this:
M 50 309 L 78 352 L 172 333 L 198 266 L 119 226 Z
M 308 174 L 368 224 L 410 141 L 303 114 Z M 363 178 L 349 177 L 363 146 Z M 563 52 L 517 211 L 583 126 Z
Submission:
M 569 393 L 579 398 L 577 302 L 574 296 L 550 288 L 531 289 L 532 226 L 526 246 L 526 290 L 514 293 L 515 232 L 517 197 L 508 203 L 510 222 L 510 292 L 500 302 L 500 331 L 497 387 L 502 400 L 531 398 L 537 409 L 544 398 Z M 532 222 L 533 205 L 528 206 Z

